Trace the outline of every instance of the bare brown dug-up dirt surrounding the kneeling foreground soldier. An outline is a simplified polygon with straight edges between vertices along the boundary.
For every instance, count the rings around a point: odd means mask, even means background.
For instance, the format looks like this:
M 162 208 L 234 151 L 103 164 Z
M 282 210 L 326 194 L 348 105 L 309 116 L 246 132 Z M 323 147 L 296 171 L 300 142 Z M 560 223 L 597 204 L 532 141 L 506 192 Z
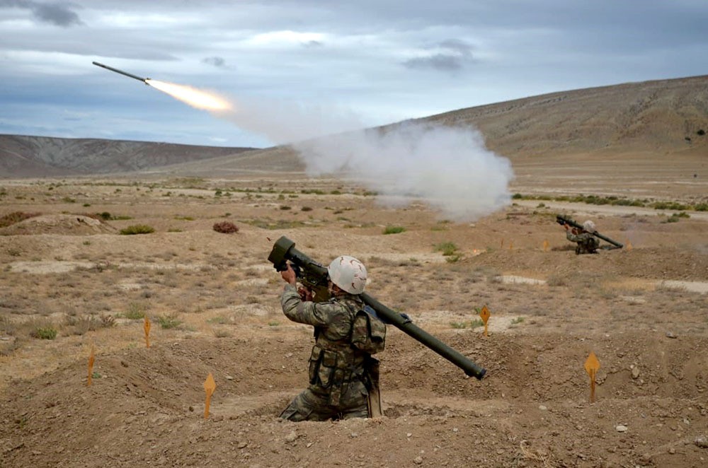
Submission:
M 704 338 L 597 337 L 594 349 L 605 360 L 594 404 L 578 365 L 593 346 L 580 337 L 485 340 L 467 330 L 441 338 L 484 362 L 491 378 L 466 378 L 394 330 L 382 354 L 386 416 L 333 423 L 277 417 L 306 379 L 309 344 L 299 337 L 266 331 L 99 351 L 90 387 L 85 361 L 13 381 L 0 413 L 0 450 L 6 466 L 18 468 L 307 467 L 324 460 L 589 467 L 628 459 L 690 467 L 706 455 L 694 443 L 705 435 L 708 411 L 708 358 L 697 352 L 708 346 Z M 209 373 L 217 390 L 205 420 Z M 588 435 L 593 443 L 580 445 Z

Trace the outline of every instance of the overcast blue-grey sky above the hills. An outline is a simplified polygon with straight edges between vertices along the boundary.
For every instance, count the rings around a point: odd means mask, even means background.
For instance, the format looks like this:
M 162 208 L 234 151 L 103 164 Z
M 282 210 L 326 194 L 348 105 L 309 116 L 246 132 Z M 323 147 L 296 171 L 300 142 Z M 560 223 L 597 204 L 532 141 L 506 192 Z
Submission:
M 214 91 L 236 117 L 93 61 Z M 0 0 L 2 134 L 272 146 L 703 74 L 707 0 Z

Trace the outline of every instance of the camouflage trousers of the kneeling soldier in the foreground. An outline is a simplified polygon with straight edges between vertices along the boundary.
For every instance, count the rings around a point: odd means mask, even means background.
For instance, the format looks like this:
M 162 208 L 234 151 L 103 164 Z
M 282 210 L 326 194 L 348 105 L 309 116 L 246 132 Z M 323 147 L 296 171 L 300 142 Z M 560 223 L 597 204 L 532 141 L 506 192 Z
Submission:
M 354 380 L 341 387 L 339 403 L 330 404 L 332 389 L 310 385 L 297 395 L 280 417 L 288 421 L 329 421 L 330 419 L 368 418 L 368 392 L 364 382 Z

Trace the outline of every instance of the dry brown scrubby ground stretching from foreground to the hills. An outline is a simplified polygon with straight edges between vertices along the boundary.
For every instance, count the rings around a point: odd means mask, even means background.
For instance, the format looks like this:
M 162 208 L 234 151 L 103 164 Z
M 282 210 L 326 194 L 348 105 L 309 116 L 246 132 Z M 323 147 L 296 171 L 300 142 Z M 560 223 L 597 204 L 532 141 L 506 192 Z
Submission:
M 455 223 L 423 204 L 389 209 L 333 180 L 202 180 L 199 193 L 178 185 L 7 185 L 4 210 L 55 221 L 30 218 L 0 236 L 1 466 L 707 463 L 704 218 L 565 207 L 626 245 L 576 256 L 556 208 L 539 204 Z M 95 213 L 112 219 L 96 229 L 76 221 Z M 216 233 L 220 221 L 239 232 Z M 119 234 L 138 224 L 155 232 Z M 387 226 L 405 230 L 384 235 Z M 372 296 L 486 377 L 467 377 L 389 327 L 378 356 L 383 418 L 278 419 L 304 388 L 312 346 L 312 330 L 280 312 L 283 283 L 266 259 L 281 235 L 323 263 L 362 259 Z M 30 336 L 40 329 L 57 337 Z M 594 402 L 590 353 L 600 361 Z M 205 419 L 210 373 L 217 389 Z

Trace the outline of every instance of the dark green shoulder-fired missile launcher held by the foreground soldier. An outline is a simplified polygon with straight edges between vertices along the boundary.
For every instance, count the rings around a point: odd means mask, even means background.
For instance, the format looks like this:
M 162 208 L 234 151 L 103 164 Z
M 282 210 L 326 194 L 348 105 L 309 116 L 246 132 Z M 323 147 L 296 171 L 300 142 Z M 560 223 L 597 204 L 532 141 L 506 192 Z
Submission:
M 285 271 L 287 269 L 287 262 L 289 261 L 292 269 L 295 270 L 297 279 L 299 279 L 304 286 L 314 291 L 314 300 L 316 302 L 321 302 L 329 298 L 327 291 L 329 274 L 327 274 L 327 269 L 295 249 L 295 242 L 292 242 L 292 240 L 285 236 L 278 239 L 275 245 L 273 245 L 273 250 L 270 252 L 270 255 L 268 255 L 268 261 L 273 264 L 273 267 L 275 267 L 277 271 Z M 433 337 L 433 335 L 425 330 L 416 327 L 409 317 L 387 308 L 367 293 L 361 293 L 360 297 L 365 304 L 376 311 L 377 315 L 379 315 L 384 322 L 392 324 L 394 327 L 400 329 L 401 332 L 409 335 L 409 337 L 420 341 L 422 344 L 447 359 L 447 361 L 450 361 L 464 370 L 465 374 L 472 375 L 479 380 L 484 377 L 486 369 L 479 367 L 479 365 L 476 365 L 467 357 L 455 351 L 455 349 L 450 348 L 450 346 L 447 346 L 447 344 Z

